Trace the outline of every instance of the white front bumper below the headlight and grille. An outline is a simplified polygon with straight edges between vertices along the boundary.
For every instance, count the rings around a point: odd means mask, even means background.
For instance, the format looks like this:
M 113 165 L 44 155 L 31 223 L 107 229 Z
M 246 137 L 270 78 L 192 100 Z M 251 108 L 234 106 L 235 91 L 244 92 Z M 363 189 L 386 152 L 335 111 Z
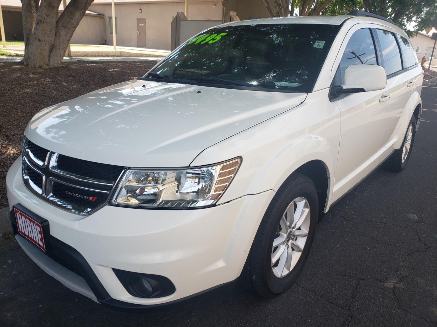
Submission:
M 107 205 L 83 216 L 48 204 L 28 191 L 21 177 L 21 160 L 17 160 L 7 174 L 7 196 L 11 209 L 21 204 L 47 219 L 52 241 L 77 252 L 95 280 L 85 276 L 87 283 L 78 282 L 80 279 L 42 252 L 29 252 L 31 248 L 23 244 L 31 244 L 17 236 L 31 259 L 76 292 L 103 304 L 135 309 L 175 303 L 238 278 L 274 191 L 246 195 L 212 208 L 153 210 Z M 53 262 L 48 265 L 41 254 Z M 132 296 L 113 268 L 165 276 L 176 291 L 153 299 Z M 100 291 L 95 286 L 99 283 Z

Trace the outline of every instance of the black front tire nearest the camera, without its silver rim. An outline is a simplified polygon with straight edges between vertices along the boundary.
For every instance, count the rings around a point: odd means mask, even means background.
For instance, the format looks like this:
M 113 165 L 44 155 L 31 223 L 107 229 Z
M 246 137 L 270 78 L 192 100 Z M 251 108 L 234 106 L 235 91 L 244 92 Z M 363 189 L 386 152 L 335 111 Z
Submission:
M 308 237 L 295 267 L 288 275 L 278 278 L 272 272 L 271 267 L 273 239 L 284 211 L 291 201 L 298 197 L 305 198 L 309 204 L 310 224 Z M 241 284 L 246 289 L 264 297 L 272 297 L 288 290 L 298 278 L 308 258 L 316 231 L 318 212 L 317 190 L 311 179 L 298 173 L 288 177 L 275 194 L 264 214 L 240 277 Z

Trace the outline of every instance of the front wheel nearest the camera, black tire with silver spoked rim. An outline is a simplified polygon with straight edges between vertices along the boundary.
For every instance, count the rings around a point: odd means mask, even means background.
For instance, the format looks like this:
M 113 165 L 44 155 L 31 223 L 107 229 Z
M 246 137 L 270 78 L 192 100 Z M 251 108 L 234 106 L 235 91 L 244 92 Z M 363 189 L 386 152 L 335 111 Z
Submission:
M 318 207 L 309 177 L 296 173 L 284 182 L 264 214 L 246 261 L 242 279 L 248 288 L 271 297 L 295 282 L 314 239 Z

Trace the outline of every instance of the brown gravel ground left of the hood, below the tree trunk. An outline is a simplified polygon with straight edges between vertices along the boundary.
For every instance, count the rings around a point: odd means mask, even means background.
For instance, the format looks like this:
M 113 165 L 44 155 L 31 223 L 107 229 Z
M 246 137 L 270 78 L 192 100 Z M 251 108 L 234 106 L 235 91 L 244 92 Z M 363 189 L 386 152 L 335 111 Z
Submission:
M 35 69 L 0 63 L 0 208 L 7 206 L 6 173 L 21 153 L 23 132 L 39 110 L 144 75 L 154 62 L 65 63 Z

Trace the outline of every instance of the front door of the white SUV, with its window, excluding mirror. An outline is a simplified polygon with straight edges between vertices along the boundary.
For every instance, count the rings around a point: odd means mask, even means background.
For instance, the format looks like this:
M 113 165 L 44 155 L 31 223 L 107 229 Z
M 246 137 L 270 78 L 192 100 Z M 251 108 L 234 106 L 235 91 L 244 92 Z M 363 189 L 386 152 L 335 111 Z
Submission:
M 351 29 L 346 40 L 346 47 L 340 50 L 341 60 L 333 85 L 343 84 L 344 72 L 350 65 L 378 64 L 370 28 Z M 359 92 L 335 101 L 341 112 L 341 135 L 334 197 L 336 194 L 341 196 L 357 184 L 378 158 L 385 127 L 382 118 L 389 102 L 386 101 L 388 98 L 384 99 L 387 91 L 388 87 L 379 91 Z

